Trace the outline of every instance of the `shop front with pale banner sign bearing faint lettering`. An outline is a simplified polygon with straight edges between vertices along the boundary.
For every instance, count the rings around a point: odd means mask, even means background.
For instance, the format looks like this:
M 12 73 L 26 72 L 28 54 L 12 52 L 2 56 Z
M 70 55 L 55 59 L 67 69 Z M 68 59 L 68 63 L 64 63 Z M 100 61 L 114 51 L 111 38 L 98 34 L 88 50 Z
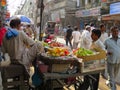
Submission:
M 85 23 L 93 22 L 96 27 L 98 27 L 101 21 L 100 7 L 91 8 L 88 10 L 78 10 L 75 13 L 76 18 L 79 18 L 80 29 L 84 28 Z

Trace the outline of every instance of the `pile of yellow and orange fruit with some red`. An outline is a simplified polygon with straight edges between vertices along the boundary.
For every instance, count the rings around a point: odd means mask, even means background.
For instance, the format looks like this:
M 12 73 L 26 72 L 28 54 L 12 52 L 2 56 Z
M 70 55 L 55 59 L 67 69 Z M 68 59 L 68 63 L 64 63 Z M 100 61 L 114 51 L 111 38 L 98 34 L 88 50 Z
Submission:
M 69 50 L 67 48 L 61 48 L 61 47 L 53 47 L 53 48 L 49 48 L 47 51 L 47 55 L 49 56 L 55 56 L 55 57 L 59 57 L 59 56 L 68 56 L 69 55 Z

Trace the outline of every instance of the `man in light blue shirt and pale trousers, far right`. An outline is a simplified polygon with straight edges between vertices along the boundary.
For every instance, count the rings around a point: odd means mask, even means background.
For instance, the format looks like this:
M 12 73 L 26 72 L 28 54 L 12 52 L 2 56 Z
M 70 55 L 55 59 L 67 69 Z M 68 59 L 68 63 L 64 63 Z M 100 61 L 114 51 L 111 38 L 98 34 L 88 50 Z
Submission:
M 116 90 L 115 79 L 119 77 L 120 71 L 120 37 L 118 36 L 118 27 L 111 27 L 111 37 L 105 40 L 107 50 L 107 69 L 111 90 Z

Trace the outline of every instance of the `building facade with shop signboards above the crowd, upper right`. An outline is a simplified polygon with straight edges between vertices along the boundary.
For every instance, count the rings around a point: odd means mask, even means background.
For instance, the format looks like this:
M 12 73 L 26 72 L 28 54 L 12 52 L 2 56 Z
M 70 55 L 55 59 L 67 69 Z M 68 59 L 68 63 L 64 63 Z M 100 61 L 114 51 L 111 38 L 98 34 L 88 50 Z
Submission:
M 119 21 L 119 13 L 110 14 L 111 5 L 113 3 L 117 3 L 116 9 L 119 9 L 119 1 L 120 0 L 77 0 L 77 11 L 76 18 L 78 18 L 78 23 L 80 25 L 80 29 L 84 28 L 84 23 L 93 22 L 96 27 L 99 24 L 107 22 L 107 26 L 111 26 L 113 21 L 118 24 Z M 113 7 L 115 9 L 115 7 Z M 112 8 L 112 9 L 113 9 Z M 119 10 L 117 10 L 119 12 Z

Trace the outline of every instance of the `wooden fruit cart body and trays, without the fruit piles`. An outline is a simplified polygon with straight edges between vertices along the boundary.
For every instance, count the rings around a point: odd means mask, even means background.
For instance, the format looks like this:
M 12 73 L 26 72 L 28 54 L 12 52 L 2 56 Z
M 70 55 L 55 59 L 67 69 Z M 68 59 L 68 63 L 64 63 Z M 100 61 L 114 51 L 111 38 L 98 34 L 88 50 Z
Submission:
M 72 58 L 71 58 L 72 57 Z M 67 57 L 47 57 L 45 55 L 39 55 L 40 61 L 44 62 L 48 66 L 46 72 L 40 72 L 43 78 L 44 87 L 50 90 L 59 85 L 59 87 L 69 88 L 71 84 L 76 85 L 80 81 L 76 80 L 71 82 L 69 85 L 64 83 L 64 80 L 71 77 L 79 77 L 84 75 L 90 75 L 95 73 L 103 72 L 105 67 L 102 63 L 99 67 L 91 67 L 88 63 L 88 67 L 85 67 L 85 63 L 89 61 L 101 61 L 106 58 L 105 52 L 97 53 L 91 56 L 84 56 L 76 58 L 74 56 Z M 77 71 L 69 71 L 70 65 L 77 66 Z M 97 63 L 96 63 L 97 64 Z M 68 71 L 67 71 L 68 70 Z M 48 84 L 49 81 L 49 84 Z M 46 86 L 47 85 L 47 86 Z M 76 87 L 76 86 L 75 86 Z M 76 89 L 77 90 L 77 89 Z

